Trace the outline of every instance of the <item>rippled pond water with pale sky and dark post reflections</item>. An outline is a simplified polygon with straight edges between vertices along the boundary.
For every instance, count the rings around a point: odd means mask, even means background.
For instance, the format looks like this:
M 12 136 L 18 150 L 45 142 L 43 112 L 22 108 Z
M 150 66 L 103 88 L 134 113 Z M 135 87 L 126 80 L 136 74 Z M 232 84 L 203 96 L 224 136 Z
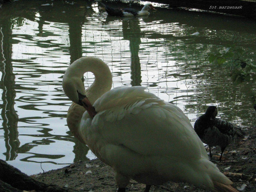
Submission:
M 31 175 L 95 158 L 66 126 L 71 102 L 62 77 L 82 56 L 100 57 L 109 65 L 113 88 L 145 86 L 180 107 L 192 125 L 214 104 L 219 117 L 243 128 L 255 126 L 255 83 L 232 83 L 228 67 L 205 58 L 237 45 L 255 64 L 256 22 L 154 5 L 158 11 L 142 18 L 109 17 L 96 2 L 3 5 L 0 159 Z M 92 82 L 93 75 L 85 74 L 85 87 Z

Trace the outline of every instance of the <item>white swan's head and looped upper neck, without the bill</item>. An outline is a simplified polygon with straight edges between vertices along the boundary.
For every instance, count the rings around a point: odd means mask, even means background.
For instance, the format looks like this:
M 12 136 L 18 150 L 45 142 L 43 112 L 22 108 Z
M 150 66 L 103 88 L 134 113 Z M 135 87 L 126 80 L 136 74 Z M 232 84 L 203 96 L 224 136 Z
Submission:
M 95 81 L 85 90 L 81 80 L 83 74 L 92 72 Z M 63 90 L 75 103 L 78 103 L 78 93 L 86 95 L 91 104 L 112 87 L 112 76 L 107 64 L 97 57 L 82 57 L 73 62 L 63 76 Z

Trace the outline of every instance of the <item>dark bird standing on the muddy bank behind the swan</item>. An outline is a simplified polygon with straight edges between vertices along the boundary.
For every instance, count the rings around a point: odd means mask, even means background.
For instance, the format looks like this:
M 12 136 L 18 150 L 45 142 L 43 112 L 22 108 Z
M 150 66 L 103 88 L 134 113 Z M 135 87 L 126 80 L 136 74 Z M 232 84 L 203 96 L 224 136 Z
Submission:
M 244 131 L 237 125 L 216 118 L 217 113 L 217 107 L 209 106 L 205 114 L 199 116 L 195 122 L 194 130 L 201 141 L 209 145 L 210 157 L 212 157 L 211 147 L 220 146 L 219 161 L 221 161 L 223 152 L 228 144 L 237 137 L 244 137 Z

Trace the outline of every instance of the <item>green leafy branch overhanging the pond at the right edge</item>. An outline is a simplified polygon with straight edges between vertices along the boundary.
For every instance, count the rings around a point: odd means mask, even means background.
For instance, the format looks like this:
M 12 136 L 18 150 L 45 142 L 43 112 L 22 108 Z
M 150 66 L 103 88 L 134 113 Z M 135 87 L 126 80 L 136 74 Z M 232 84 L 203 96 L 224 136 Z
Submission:
M 228 47 L 223 53 L 208 54 L 206 60 L 218 65 L 230 66 L 230 77 L 235 83 L 244 81 L 256 81 L 256 65 L 252 60 L 247 59 L 253 54 L 239 46 Z

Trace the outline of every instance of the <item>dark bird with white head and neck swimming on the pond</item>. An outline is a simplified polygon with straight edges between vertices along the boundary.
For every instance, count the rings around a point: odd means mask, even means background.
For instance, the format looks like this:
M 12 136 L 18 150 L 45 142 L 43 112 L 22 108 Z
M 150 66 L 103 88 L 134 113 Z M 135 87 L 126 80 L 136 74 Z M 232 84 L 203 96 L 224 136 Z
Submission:
M 117 16 L 117 17 L 140 17 L 144 15 L 149 15 L 149 10 L 154 9 L 156 10 L 152 4 L 147 3 L 144 5 L 144 7 L 141 9 L 141 11 L 137 11 L 133 8 L 116 8 L 116 7 L 110 7 L 108 5 L 105 5 L 104 3 L 100 2 L 100 4 L 106 9 L 108 15 L 110 16 Z

